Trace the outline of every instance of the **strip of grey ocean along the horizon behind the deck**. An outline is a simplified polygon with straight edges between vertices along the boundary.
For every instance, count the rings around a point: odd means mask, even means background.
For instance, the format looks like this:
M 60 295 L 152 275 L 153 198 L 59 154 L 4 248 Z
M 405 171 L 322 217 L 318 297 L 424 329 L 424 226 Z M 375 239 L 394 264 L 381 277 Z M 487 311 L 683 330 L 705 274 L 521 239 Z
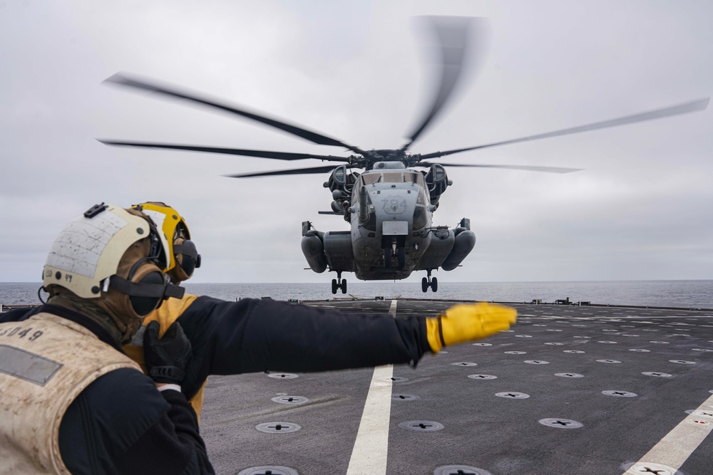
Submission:
M 40 283 L 0 282 L 0 304 L 40 303 Z M 439 282 L 438 292 L 423 293 L 420 282 L 349 282 L 348 294 L 333 295 L 324 283 L 185 283 L 189 293 L 235 301 L 271 297 L 275 300 L 329 300 L 349 295 L 374 298 L 434 298 L 443 300 L 553 303 L 569 298 L 602 305 L 713 308 L 713 281 L 602 282 Z M 45 294 L 46 296 L 46 294 Z

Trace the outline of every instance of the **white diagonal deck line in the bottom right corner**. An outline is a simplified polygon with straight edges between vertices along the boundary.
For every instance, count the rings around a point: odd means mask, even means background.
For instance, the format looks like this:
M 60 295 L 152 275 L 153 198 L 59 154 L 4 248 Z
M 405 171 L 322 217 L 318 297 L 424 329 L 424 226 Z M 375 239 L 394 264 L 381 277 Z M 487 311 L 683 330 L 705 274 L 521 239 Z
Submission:
M 705 400 L 697 410 L 704 411 L 711 404 L 713 404 L 713 396 Z M 713 424 L 704 423 L 710 422 L 707 419 L 707 417 L 695 413 L 690 414 L 666 434 L 645 456 L 642 456 L 634 466 L 646 463 L 665 464 L 678 470 L 713 429 Z M 634 467 L 632 466 L 632 468 Z M 624 475 L 632 473 L 638 472 L 629 469 L 625 471 Z

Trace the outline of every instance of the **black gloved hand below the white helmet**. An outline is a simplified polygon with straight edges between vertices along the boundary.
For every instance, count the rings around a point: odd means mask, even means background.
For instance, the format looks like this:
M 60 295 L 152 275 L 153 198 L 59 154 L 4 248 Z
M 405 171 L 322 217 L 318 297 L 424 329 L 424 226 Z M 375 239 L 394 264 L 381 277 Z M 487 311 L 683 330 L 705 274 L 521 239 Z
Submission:
M 191 356 L 190 340 L 178 322 L 173 322 L 160 339 L 159 328 L 159 323 L 154 320 L 148 324 L 143 335 L 143 356 L 148 376 L 154 382 L 180 385 Z

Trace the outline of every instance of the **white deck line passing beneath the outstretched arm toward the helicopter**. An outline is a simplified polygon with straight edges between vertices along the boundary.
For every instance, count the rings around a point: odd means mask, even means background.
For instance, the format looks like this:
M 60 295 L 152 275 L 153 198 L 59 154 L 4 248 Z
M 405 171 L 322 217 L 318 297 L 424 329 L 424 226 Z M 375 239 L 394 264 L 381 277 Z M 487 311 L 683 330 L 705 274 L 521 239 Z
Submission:
M 396 317 L 395 300 L 391 301 L 389 315 Z M 374 368 L 347 475 L 386 475 L 393 375 L 393 365 Z

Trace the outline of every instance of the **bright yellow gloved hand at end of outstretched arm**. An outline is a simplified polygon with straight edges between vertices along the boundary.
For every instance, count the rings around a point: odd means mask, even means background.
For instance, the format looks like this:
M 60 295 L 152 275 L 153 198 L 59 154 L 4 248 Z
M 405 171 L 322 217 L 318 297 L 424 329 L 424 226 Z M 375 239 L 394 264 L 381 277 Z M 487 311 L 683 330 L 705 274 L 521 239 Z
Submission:
M 426 333 L 431 351 L 438 353 L 444 346 L 486 338 L 515 323 L 518 312 L 514 308 L 493 303 L 459 303 L 446 310 L 445 315 L 426 318 Z

